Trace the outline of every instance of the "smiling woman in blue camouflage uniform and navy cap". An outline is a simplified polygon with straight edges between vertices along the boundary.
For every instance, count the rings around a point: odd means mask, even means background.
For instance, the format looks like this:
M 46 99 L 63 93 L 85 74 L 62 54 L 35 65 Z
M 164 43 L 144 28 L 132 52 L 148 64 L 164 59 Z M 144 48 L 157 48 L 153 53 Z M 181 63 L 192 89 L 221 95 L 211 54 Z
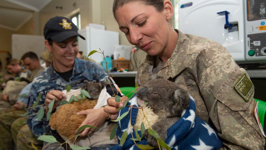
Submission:
M 97 63 L 76 58 L 78 53 L 77 37 L 79 36 L 85 40 L 77 31 L 78 29 L 74 23 L 66 17 L 56 16 L 45 24 L 45 47 L 51 52 L 53 60 L 49 68 L 33 80 L 28 106 L 31 107 L 40 94 L 42 95 L 38 105 L 45 105 L 30 108 L 27 113 L 27 124 L 36 137 L 51 134 L 52 131 L 50 130 L 49 121 L 47 121 L 46 118 L 49 110 L 48 105 L 55 99 L 53 108 L 57 106 L 56 102 L 65 97 L 62 91 L 66 89 L 67 84 L 69 84 L 72 89 L 78 89 L 84 87 L 84 85 L 88 83 L 100 82 L 108 79 L 107 73 Z M 106 88 L 107 91 L 109 91 L 108 88 L 110 88 L 110 86 L 107 85 Z M 112 93 L 109 94 L 112 95 Z M 45 109 L 45 115 L 41 121 L 37 121 L 37 112 L 41 107 Z M 79 112 L 79 115 L 87 115 L 82 125 L 100 127 L 107 121 L 107 115 L 106 112 L 103 111 L 103 107 L 84 110 Z M 85 136 L 87 133 L 93 135 L 93 130 L 94 128 L 86 128 L 80 133 L 80 136 Z M 54 136 L 56 137 L 55 134 Z M 110 133 L 106 133 L 106 137 L 102 137 L 102 139 L 105 138 L 105 145 L 96 144 L 93 145 L 93 148 L 106 149 L 106 147 L 116 144 L 110 141 Z M 44 147 L 46 147 L 45 149 L 58 148 L 57 145 L 46 142 Z M 64 149 L 64 147 L 60 149 Z

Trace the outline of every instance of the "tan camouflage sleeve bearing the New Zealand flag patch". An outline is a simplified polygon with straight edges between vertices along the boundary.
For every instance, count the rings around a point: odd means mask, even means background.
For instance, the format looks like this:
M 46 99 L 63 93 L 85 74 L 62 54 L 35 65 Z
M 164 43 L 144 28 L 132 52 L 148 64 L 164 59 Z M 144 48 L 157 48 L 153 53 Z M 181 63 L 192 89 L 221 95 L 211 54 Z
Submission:
M 254 116 L 254 86 L 246 71 L 227 56 L 208 66 L 199 81 L 222 149 L 263 149 L 265 139 Z

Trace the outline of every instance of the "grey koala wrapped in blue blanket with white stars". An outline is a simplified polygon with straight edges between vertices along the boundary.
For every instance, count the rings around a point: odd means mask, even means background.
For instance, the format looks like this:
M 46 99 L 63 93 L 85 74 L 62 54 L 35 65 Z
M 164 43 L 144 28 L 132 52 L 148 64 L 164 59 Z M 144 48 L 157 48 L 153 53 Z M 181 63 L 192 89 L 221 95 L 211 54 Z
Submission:
M 140 106 L 144 106 L 144 101 L 147 101 L 147 106 L 158 115 L 158 120 L 152 125 L 152 129 L 163 141 L 167 138 L 167 129 L 180 119 L 182 111 L 187 109 L 190 103 L 188 92 L 166 79 L 148 81 L 137 91 L 136 96 Z M 150 146 L 158 148 L 156 138 L 148 135 L 148 129 L 145 130 L 144 137 Z

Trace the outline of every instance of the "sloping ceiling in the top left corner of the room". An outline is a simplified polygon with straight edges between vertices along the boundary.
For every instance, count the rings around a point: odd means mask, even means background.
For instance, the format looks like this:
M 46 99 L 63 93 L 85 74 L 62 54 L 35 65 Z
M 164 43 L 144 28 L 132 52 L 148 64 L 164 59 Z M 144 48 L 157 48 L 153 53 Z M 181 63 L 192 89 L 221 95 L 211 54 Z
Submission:
M 1 0 L 0 27 L 17 31 L 52 0 Z

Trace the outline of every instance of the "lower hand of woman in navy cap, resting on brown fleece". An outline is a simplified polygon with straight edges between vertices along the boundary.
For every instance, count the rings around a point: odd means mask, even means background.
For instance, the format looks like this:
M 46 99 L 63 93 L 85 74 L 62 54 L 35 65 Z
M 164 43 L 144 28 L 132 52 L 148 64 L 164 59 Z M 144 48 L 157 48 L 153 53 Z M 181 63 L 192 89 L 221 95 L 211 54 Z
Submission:
M 98 109 L 82 110 L 80 112 L 77 112 L 77 115 L 87 115 L 86 119 L 83 121 L 80 127 L 82 127 L 83 125 L 101 127 L 105 123 L 107 118 L 107 114 L 103 111 L 102 107 Z M 81 131 L 79 136 L 84 137 L 87 135 L 87 133 L 89 136 L 91 136 L 94 133 L 94 130 L 95 128 L 85 128 L 83 131 Z M 74 134 L 77 134 L 77 131 L 78 130 L 76 130 Z

